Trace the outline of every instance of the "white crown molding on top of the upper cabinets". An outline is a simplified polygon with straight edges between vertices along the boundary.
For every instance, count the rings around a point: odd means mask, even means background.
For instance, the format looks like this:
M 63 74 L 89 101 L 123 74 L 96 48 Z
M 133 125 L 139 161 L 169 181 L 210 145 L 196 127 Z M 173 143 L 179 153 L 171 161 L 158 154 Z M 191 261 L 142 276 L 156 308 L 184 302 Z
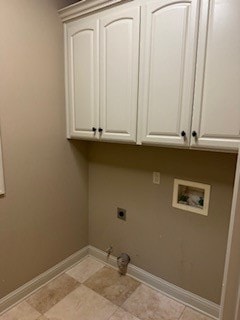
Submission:
M 133 0 L 82 0 L 58 10 L 58 13 L 62 21 L 65 22 L 121 2 L 124 3 L 130 1 Z

